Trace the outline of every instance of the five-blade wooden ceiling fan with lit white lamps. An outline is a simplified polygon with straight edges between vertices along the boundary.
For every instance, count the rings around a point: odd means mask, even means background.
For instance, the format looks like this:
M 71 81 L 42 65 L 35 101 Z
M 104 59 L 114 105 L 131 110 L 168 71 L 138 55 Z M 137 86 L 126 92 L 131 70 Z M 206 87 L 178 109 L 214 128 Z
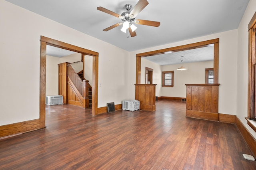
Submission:
M 154 27 L 158 27 L 160 26 L 160 22 L 156 22 L 156 21 L 148 21 L 148 20 L 135 20 L 135 17 L 148 5 L 148 1 L 147 0 L 139 0 L 139 2 L 134 6 L 134 8 L 131 10 L 132 5 L 131 4 L 126 4 L 125 8 L 126 8 L 126 12 L 123 12 L 121 15 L 116 14 L 115 12 L 112 12 L 106 8 L 103 8 L 101 6 L 99 6 L 97 8 L 97 10 L 100 10 L 102 12 L 105 12 L 107 14 L 110 14 L 112 16 L 115 16 L 117 18 L 120 18 L 123 22 L 119 22 L 117 24 L 114 24 L 108 28 L 105 28 L 103 31 L 109 31 L 113 28 L 116 28 L 120 25 L 123 25 L 121 31 L 126 33 L 126 30 L 129 29 L 129 32 L 127 32 L 128 36 L 127 38 L 129 38 L 129 33 L 131 35 L 131 37 L 135 37 L 136 36 L 136 26 L 134 24 L 142 24 L 142 25 L 146 25 L 146 26 L 154 26 Z M 131 11 L 130 11 L 131 10 Z M 134 23 L 134 24 L 133 24 Z

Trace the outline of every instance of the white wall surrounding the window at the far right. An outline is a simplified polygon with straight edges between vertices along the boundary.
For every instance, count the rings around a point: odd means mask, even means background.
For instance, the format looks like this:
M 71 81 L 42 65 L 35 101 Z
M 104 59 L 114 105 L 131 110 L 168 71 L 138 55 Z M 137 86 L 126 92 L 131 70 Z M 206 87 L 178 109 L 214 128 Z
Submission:
M 248 97 L 248 24 L 256 11 L 256 0 L 250 0 L 244 16 L 238 27 L 238 59 L 237 59 L 237 117 L 244 126 L 256 138 L 256 132 L 247 125 L 244 119 L 247 117 L 247 97 Z

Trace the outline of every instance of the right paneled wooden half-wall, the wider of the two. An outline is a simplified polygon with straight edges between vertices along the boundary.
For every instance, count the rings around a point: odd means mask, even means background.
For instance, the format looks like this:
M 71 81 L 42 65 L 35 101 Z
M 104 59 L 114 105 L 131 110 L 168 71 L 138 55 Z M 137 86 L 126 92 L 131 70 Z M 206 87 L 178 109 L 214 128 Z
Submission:
M 220 84 L 186 84 L 186 117 L 219 121 Z

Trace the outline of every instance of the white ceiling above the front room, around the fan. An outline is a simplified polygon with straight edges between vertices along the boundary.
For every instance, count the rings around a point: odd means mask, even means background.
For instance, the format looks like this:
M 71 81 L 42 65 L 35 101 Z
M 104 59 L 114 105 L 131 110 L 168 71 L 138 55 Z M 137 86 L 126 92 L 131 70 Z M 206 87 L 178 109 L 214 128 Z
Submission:
M 136 16 L 136 19 L 158 21 L 161 23 L 160 26 L 136 24 L 137 36 L 127 38 L 127 34 L 120 31 L 122 26 L 108 32 L 102 31 L 122 20 L 96 8 L 102 6 L 117 14 L 122 14 L 126 11 L 125 4 L 131 4 L 133 8 L 138 0 L 6 1 L 126 51 L 136 51 L 237 29 L 249 2 L 249 0 L 148 0 L 149 4 Z M 198 53 L 201 52 L 198 51 Z M 174 53 L 169 55 L 174 55 Z M 180 56 L 184 56 L 185 63 L 188 55 L 185 51 L 180 51 L 176 55 L 178 56 L 177 62 L 178 60 L 180 62 Z

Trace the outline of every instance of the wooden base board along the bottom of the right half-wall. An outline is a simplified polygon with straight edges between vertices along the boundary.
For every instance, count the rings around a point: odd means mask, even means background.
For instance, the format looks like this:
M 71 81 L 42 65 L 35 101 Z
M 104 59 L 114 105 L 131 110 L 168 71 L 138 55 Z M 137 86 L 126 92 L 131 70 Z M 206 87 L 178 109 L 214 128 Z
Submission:
M 210 121 L 219 121 L 219 114 L 218 113 L 209 113 L 209 112 L 186 110 L 186 117 L 192 117 L 192 118 L 197 118 L 197 119 L 205 119 L 205 120 L 210 120 Z

